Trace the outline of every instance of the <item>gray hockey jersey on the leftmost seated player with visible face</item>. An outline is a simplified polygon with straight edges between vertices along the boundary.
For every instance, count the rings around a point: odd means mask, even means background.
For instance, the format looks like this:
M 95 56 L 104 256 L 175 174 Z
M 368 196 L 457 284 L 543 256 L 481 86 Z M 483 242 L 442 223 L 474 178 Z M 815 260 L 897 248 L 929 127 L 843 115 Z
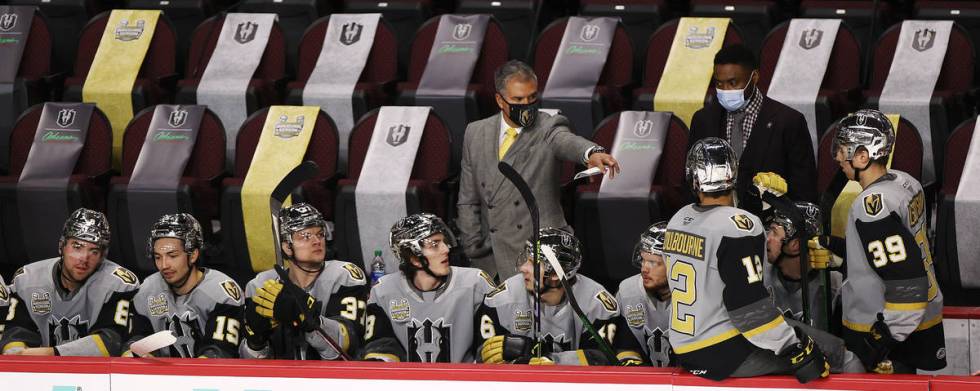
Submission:
M 59 268 L 60 258 L 51 258 L 14 273 L 3 351 L 55 347 L 63 356 L 118 356 L 129 338 L 129 308 L 139 279 L 105 259 L 69 293 L 56 282 Z

